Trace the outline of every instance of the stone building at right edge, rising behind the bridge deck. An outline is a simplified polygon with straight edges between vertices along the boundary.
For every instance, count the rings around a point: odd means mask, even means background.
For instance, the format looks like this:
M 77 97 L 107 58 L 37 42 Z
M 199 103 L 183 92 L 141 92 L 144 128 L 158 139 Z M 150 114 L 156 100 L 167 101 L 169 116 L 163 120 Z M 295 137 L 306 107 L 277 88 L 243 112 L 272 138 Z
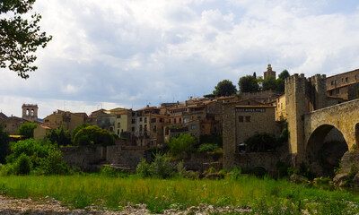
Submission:
M 340 73 L 327 78 L 328 96 L 339 97 L 346 100 L 357 98 L 359 88 L 359 69 Z

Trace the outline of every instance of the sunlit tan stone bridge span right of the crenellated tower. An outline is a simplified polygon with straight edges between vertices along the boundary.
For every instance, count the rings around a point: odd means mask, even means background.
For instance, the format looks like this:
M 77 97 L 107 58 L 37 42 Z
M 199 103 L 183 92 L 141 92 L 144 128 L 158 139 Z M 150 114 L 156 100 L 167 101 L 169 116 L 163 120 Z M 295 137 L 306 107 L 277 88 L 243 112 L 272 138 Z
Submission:
M 304 151 L 318 150 L 333 127 L 343 134 L 349 150 L 359 150 L 359 99 L 305 114 Z

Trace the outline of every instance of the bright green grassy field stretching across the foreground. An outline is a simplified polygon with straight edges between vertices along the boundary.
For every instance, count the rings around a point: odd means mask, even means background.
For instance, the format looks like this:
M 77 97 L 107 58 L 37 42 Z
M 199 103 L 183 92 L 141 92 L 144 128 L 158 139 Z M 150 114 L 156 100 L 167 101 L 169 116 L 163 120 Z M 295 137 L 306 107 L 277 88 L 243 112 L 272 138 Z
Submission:
M 0 176 L 0 193 L 14 198 L 53 197 L 73 208 L 91 204 L 121 210 L 145 203 L 152 212 L 200 204 L 250 207 L 253 214 L 355 214 L 359 196 L 327 191 L 286 180 L 241 175 L 236 180 L 142 179 L 89 176 Z M 229 212 L 229 214 L 233 214 Z

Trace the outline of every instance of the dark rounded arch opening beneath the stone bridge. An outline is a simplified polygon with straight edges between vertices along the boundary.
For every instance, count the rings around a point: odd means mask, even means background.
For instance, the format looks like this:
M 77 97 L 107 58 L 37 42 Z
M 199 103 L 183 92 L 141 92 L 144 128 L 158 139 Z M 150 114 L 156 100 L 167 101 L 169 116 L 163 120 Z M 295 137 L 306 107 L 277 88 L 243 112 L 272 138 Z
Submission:
M 305 150 L 312 173 L 317 176 L 334 176 L 333 169 L 338 167 L 348 145 L 337 127 L 320 125 L 311 133 Z

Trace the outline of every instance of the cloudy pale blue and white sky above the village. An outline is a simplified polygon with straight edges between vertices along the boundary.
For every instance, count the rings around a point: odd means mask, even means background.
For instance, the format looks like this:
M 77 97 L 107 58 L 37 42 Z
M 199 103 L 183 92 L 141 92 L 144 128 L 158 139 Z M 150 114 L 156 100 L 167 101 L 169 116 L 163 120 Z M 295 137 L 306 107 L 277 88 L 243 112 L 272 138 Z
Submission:
M 359 68 L 357 0 L 37 0 L 39 70 L 1 69 L 0 109 L 39 117 L 202 97 L 228 79 L 280 73 L 327 76 Z

